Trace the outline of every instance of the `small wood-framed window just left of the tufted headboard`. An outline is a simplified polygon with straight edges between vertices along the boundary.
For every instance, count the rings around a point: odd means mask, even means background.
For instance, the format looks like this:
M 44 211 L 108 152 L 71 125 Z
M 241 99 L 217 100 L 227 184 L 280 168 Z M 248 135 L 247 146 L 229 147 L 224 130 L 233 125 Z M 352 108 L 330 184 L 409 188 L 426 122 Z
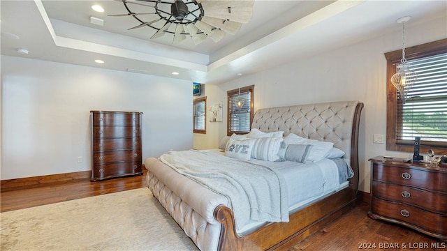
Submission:
M 228 96 L 228 128 L 227 135 L 245 134 L 250 132 L 253 121 L 253 89 L 254 86 L 246 86 L 227 92 Z M 244 105 L 237 109 L 235 101 L 241 98 Z

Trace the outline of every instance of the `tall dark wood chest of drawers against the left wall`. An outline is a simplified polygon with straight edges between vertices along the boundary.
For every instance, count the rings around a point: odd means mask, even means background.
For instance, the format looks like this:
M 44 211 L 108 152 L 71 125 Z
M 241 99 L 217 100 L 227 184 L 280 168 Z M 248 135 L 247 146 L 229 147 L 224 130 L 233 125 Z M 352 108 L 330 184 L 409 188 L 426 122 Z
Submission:
M 142 174 L 142 112 L 91 111 L 91 181 Z

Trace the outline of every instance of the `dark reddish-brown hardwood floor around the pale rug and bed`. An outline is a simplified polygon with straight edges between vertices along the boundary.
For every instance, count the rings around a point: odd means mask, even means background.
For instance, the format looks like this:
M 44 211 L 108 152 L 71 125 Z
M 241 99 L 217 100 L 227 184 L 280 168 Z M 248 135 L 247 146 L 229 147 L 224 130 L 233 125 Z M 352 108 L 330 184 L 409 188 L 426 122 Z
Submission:
M 146 186 L 145 175 L 142 175 L 96 182 L 85 179 L 9 190 L 0 193 L 1 212 Z M 290 250 L 447 250 L 447 244 L 436 238 L 368 218 L 368 208 L 367 203 L 361 202 L 351 212 L 330 222 Z

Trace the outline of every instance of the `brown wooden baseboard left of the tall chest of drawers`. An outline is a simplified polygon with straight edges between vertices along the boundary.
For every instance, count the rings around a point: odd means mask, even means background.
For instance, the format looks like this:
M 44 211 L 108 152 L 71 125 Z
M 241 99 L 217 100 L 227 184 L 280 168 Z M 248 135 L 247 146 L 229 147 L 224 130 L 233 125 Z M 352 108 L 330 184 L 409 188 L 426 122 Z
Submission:
M 20 190 L 25 188 L 37 188 L 50 183 L 75 182 L 90 179 L 91 171 L 72 172 L 66 174 L 52 174 L 27 178 L 13 178 L 0 181 L 1 192 Z

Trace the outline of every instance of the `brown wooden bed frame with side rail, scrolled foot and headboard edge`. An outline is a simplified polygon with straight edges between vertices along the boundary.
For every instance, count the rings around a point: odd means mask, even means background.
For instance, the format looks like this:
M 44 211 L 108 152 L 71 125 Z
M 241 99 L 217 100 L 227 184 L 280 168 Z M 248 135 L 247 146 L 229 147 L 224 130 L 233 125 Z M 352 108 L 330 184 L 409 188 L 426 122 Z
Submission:
M 342 102 L 323 105 L 340 103 Z M 291 213 L 289 222 L 270 222 L 245 236 L 236 232 L 233 211 L 227 206 L 219 205 L 214 209 L 214 218 L 221 223 L 218 250 L 287 250 L 355 206 L 359 177 L 358 131 L 363 103 L 349 101 L 346 104 L 354 106 L 354 109 L 350 109 L 353 110 L 353 121 L 349 121 L 352 123 L 350 149 L 345 149 L 346 153 L 349 151 L 349 157 L 345 160 L 350 162 L 355 173 L 353 178 L 349 179 L 349 186 Z

